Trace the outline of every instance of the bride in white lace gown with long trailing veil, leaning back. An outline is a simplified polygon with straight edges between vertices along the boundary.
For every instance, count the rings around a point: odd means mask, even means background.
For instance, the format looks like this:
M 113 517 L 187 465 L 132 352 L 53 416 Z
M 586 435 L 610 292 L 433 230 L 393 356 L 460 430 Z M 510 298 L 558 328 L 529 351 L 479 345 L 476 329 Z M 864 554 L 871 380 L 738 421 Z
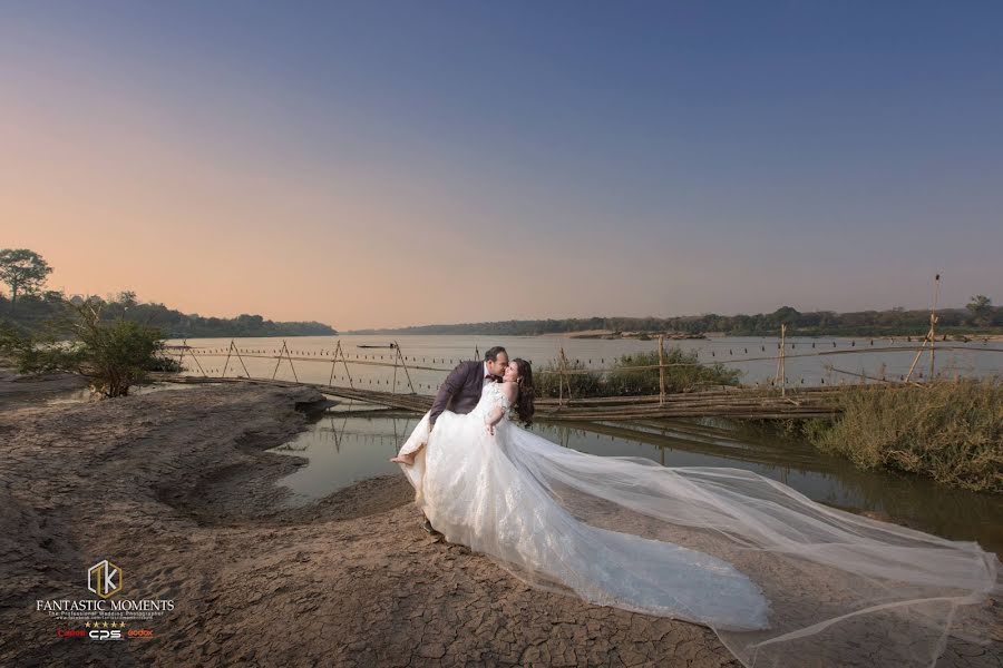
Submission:
M 828 508 L 730 468 L 562 448 L 513 360 L 468 414 L 427 413 L 393 459 L 446 540 L 534 587 L 712 628 L 746 666 L 933 665 L 985 642 L 996 557 Z

